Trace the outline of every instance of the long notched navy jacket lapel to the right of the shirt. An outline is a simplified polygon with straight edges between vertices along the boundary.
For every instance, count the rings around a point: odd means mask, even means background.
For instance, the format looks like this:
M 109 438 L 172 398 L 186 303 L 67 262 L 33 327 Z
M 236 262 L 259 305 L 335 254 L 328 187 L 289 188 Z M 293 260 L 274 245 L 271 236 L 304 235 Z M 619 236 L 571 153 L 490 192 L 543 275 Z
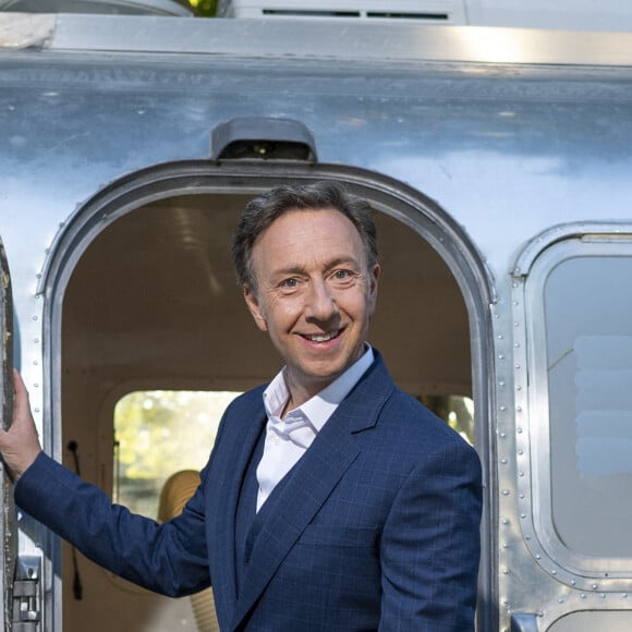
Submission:
M 253 607 L 305 527 L 360 454 L 354 434 L 370 428 L 393 384 L 381 358 L 338 406 L 309 449 L 296 463 L 291 478 L 275 498 L 274 511 L 253 548 L 234 612 L 235 629 Z

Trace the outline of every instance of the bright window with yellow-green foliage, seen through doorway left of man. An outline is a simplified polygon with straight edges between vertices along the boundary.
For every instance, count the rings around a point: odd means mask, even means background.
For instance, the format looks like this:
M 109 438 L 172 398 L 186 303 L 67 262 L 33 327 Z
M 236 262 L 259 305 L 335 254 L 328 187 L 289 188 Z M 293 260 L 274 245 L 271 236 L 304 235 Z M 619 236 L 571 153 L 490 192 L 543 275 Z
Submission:
M 134 391 L 114 408 L 114 502 L 156 519 L 167 479 L 202 470 L 233 391 Z

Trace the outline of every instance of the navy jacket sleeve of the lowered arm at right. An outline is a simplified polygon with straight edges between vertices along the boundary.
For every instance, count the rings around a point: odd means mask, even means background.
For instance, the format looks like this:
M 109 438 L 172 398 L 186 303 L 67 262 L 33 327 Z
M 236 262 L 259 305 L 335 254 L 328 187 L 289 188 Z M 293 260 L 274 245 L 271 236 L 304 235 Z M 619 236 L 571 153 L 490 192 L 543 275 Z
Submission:
M 380 543 L 381 631 L 474 630 L 481 464 L 464 441 L 434 450 L 408 476 Z

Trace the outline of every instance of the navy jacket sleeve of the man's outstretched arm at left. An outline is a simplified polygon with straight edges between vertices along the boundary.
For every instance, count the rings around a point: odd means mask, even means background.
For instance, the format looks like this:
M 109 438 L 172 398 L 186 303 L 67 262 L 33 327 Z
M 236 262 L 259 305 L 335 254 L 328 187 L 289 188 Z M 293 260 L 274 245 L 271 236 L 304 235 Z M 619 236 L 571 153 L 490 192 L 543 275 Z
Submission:
M 15 502 L 86 557 L 150 591 L 183 596 L 210 584 L 203 483 L 182 514 L 163 524 L 132 514 L 40 453 L 15 486 Z

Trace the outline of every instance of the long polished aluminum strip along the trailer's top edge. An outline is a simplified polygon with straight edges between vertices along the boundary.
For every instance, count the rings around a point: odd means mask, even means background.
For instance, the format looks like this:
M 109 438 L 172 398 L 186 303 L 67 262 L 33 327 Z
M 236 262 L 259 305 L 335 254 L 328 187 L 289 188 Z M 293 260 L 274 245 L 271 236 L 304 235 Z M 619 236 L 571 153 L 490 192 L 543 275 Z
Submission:
M 108 24 L 111 22 L 111 25 Z M 244 42 L 247 41 L 247 48 Z M 60 15 L 53 50 L 247 57 L 632 65 L 632 34 L 485 26 Z

